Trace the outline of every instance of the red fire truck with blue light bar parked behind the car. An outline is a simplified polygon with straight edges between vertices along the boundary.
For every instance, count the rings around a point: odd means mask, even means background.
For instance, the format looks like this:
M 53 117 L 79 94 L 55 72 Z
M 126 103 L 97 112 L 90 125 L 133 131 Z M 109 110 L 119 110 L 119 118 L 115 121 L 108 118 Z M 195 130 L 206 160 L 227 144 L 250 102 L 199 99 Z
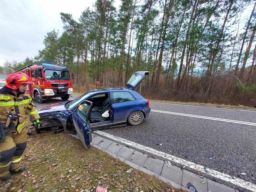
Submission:
M 66 66 L 45 62 L 41 65 L 31 64 L 16 72 L 23 72 L 31 77 L 34 84 L 29 84 L 28 92 L 38 103 L 57 97 L 67 100 L 73 93 L 72 79 L 74 76 Z

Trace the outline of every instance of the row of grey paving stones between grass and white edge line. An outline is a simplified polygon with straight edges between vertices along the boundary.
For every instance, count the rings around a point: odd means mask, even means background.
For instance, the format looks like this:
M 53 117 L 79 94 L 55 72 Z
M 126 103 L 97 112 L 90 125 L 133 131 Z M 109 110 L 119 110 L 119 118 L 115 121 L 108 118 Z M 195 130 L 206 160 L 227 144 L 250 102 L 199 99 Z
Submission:
M 154 175 L 175 188 L 190 191 L 186 188 L 186 185 L 188 182 L 191 182 L 198 192 L 238 192 L 237 189 L 200 177 L 188 170 L 181 170 L 180 167 L 172 164 L 169 165 L 157 158 L 148 157 L 147 154 L 138 152 L 101 136 L 95 134 L 92 134 L 92 136 L 93 140 L 91 145 L 93 147 L 105 151 L 112 157 L 118 158 L 135 169 L 149 175 Z

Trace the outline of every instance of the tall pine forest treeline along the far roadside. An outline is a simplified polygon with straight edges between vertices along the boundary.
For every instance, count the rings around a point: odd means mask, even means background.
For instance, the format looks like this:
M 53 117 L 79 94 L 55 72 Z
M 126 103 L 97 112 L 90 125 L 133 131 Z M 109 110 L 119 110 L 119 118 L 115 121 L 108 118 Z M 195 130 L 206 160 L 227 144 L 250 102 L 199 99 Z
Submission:
M 62 34 L 47 32 L 37 56 L 0 71 L 53 62 L 79 87 L 125 86 L 133 72 L 150 71 L 142 94 L 151 99 L 256 105 L 255 1 L 113 3 L 96 0 L 78 20 L 60 13 Z

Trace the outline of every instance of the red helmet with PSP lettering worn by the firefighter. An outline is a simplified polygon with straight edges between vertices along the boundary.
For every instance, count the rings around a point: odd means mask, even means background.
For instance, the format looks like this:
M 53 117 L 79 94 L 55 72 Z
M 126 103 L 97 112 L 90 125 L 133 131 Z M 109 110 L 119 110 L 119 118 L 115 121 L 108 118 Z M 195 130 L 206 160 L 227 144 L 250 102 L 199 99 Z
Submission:
M 18 89 L 22 83 L 33 83 L 31 77 L 22 72 L 12 72 L 6 77 L 5 87 Z

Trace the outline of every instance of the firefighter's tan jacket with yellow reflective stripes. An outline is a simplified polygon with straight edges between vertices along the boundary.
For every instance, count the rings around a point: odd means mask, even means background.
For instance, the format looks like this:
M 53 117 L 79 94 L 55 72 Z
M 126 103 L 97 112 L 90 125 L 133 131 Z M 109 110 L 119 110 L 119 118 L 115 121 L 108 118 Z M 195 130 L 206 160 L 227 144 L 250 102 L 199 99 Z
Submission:
M 14 121 L 17 133 L 20 133 L 25 128 L 27 115 L 30 116 L 31 121 L 40 118 L 32 102 L 32 98 L 28 93 L 19 93 L 16 95 L 10 92 L 0 94 L 0 121 L 5 124 L 5 127 L 10 124 L 8 111 L 20 116 L 18 120 Z

